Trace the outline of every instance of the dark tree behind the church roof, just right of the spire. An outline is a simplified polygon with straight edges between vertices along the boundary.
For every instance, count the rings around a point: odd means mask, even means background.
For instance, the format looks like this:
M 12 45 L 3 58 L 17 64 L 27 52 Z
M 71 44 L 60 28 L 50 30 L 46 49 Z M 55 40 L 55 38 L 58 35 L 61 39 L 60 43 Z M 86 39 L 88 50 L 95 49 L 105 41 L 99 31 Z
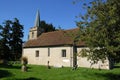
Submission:
M 47 24 L 45 21 L 40 22 L 40 27 L 44 30 L 44 32 L 51 32 L 56 30 L 52 24 Z

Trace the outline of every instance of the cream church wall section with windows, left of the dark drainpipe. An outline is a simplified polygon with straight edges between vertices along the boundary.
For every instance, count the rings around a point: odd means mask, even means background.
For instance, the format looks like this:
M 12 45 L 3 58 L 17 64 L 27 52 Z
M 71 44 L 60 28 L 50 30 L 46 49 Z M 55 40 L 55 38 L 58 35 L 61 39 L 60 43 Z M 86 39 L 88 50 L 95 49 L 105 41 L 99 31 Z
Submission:
M 51 66 L 71 66 L 72 47 L 49 47 L 50 56 L 48 56 L 48 48 L 24 48 L 23 56 L 28 57 L 28 64 L 47 65 L 48 61 Z M 62 57 L 62 50 L 66 50 L 66 57 Z M 36 50 L 39 51 L 39 57 L 35 57 Z

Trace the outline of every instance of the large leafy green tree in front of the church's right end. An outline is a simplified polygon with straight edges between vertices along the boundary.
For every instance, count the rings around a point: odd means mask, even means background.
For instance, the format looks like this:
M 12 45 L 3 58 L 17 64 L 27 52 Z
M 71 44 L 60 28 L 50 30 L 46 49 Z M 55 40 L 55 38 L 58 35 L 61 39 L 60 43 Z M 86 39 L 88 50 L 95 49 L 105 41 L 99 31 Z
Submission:
M 93 0 L 84 7 L 87 13 L 77 26 L 89 49 L 83 49 L 80 56 L 87 56 L 92 63 L 120 61 L 120 0 Z

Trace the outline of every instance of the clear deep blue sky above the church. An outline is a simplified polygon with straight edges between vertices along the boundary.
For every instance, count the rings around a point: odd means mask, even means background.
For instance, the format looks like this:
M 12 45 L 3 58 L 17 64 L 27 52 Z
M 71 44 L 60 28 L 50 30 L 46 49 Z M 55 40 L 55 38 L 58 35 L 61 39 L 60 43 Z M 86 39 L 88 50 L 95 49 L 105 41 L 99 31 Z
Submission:
M 84 14 L 84 1 L 73 4 L 74 0 L 0 0 L 0 25 L 5 20 L 18 18 L 24 26 L 24 41 L 27 41 L 31 27 L 34 27 L 36 12 L 40 11 L 40 20 L 53 24 L 55 28 L 76 28 L 76 16 Z M 78 0 L 76 0 L 78 1 Z

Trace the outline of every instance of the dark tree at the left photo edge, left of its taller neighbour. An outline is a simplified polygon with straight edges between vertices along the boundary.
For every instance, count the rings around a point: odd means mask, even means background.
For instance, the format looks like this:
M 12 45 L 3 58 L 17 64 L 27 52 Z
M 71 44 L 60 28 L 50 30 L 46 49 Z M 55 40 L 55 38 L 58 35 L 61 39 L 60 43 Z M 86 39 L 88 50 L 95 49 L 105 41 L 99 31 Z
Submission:
M 11 21 L 7 20 L 4 23 L 4 27 L 0 26 L 0 58 L 9 60 L 10 59 L 10 49 L 9 49 L 9 40 L 10 40 L 10 26 Z

